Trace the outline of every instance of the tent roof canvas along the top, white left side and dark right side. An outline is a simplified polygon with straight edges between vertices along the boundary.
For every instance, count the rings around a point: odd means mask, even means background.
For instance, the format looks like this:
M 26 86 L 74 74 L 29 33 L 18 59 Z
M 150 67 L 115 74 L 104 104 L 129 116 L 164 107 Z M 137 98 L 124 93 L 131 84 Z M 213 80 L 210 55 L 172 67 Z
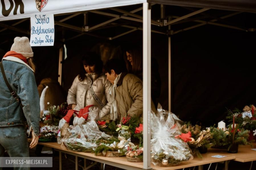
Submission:
M 256 1 L 254 0 L 23 0 L 17 2 L 17 4 L 15 4 L 13 0 L 1 1 L 0 21 L 30 18 L 30 15 L 36 13 L 73 13 L 135 5 L 144 2 L 174 6 L 256 12 Z

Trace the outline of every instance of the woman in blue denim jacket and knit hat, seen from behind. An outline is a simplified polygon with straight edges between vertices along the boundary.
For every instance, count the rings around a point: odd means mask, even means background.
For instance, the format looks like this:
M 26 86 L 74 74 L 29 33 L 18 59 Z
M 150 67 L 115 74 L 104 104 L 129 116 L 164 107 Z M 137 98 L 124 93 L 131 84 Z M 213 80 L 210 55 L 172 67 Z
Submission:
M 29 157 L 26 122 L 32 132 L 30 148 L 38 143 L 40 105 L 32 57 L 29 39 L 16 37 L 2 60 L 7 80 L 20 101 L 11 95 L 0 70 L 0 157 L 5 150 L 10 157 Z

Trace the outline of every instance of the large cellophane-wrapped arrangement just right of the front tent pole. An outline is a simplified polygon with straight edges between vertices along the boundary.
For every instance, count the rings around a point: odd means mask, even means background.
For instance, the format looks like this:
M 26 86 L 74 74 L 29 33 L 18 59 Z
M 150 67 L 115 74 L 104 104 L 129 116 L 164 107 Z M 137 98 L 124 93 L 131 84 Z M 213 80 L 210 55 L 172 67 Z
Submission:
M 151 114 L 151 161 L 156 166 L 180 164 L 193 159 L 188 144 L 180 135 L 179 118 L 158 105 L 157 114 Z

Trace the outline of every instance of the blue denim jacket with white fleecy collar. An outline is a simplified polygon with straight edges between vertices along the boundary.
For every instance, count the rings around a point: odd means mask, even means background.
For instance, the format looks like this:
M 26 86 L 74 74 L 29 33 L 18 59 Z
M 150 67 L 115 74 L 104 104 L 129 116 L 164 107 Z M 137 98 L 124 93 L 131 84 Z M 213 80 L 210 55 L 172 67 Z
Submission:
M 21 100 L 11 95 L 0 70 L 0 127 L 25 125 L 26 121 L 36 135 L 39 134 L 40 105 L 39 94 L 32 69 L 21 59 L 3 59 L 5 74 L 12 89 Z

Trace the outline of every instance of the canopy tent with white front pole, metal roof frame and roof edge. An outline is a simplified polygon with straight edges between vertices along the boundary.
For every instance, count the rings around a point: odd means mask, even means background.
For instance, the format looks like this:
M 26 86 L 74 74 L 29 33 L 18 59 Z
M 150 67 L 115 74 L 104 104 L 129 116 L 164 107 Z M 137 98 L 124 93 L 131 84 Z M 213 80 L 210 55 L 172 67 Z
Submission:
M 83 33 L 81 33 L 81 35 L 97 27 L 100 27 L 102 25 L 106 25 L 108 23 L 114 22 L 119 18 L 143 23 L 143 29 L 139 27 L 125 25 L 124 27 L 131 28 L 131 30 L 124 32 L 122 34 L 119 34 L 115 37 L 110 37 L 109 40 L 118 38 L 122 35 L 131 33 L 138 29 L 143 30 L 143 144 L 144 144 L 143 168 L 144 169 L 151 168 L 150 166 L 151 164 L 151 156 L 150 156 L 151 32 L 173 35 L 181 31 L 193 29 L 205 24 L 218 25 L 218 26 L 224 26 L 232 29 L 248 31 L 239 27 L 231 26 L 231 25 L 215 23 L 217 20 L 211 20 L 210 22 L 196 20 L 195 22 L 198 22 L 200 24 L 190 26 L 175 32 L 170 31 L 168 33 L 151 30 L 151 25 L 169 26 L 169 29 L 170 29 L 171 24 L 181 21 L 183 19 L 186 19 L 188 17 L 191 17 L 193 15 L 199 14 L 209 9 L 224 9 L 224 10 L 245 11 L 245 12 L 254 12 L 254 13 L 256 12 L 256 2 L 253 0 L 225 0 L 225 1 L 221 1 L 221 0 L 219 1 L 218 0 L 215 0 L 215 1 L 214 0 L 197 0 L 197 1 L 193 1 L 193 0 L 184 0 L 184 1 L 180 1 L 180 0 L 87 0 L 87 1 L 42 0 L 42 3 L 39 6 L 37 6 L 38 4 L 36 4 L 34 0 L 23 0 L 23 1 L 20 0 L 18 2 L 19 4 L 15 4 L 12 0 L 1 0 L 2 5 L 0 6 L 0 9 L 2 13 L 0 14 L 0 21 L 23 19 L 18 21 L 17 23 L 12 24 L 11 26 L 0 23 L 0 26 L 5 27 L 4 29 L 21 31 L 15 28 L 14 26 L 25 21 L 26 18 L 30 17 L 30 15 L 36 14 L 36 13 L 53 13 L 55 15 L 71 13 L 72 15 L 70 15 L 69 17 L 62 19 L 60 21 L 55 21 L 55 25 L 61 25 L 64 27 L 69 27 L 78 31 L 82 31 Z M 181 17 L 172 16 L 169 19 L 166 19 L 164 17 L 164 14 L 163 15 L 161 14 L 162 20 L 154 21 L 154 20 L 151 20 L 151 3 L 186 6 L 186 7 L 197 7 L 197 8 L 203 8 L 203 9 L 196 10 L 190 14 L 187 14 Z M 115 7 L 135 5 L 135 4 L 143 4 L 143 7 L 130 12 L 115 8 Z M 106 9 L 106 8 L 111 8 L 112 10 L 123 13 L 123 15 L 117 15 L 117 14 L 98 11 L 99 9 Z M 134 14 L 142 9 L 143 9 L 143 16 Z M 161 5 L 162 13 L 163 13 L 163 9 L 164 9 L 163 5 Z M 90 11 L 92 13 L 96 13 L 100 15 L 108 15 L 114 18 L 106 22 L 103 22 L 101 24 L 95 25 L 93 27 L 88 27 L 86 25 L 84 27 L 77 27 L 74 25 L 62 23 L 72 17 L 77 16 L 78 14 L 81 14 L 82 11 L 83 12 Z M 239 12 L 235 12 L 235 13 L 223 16 L 221 19 L 236 15 L 238 13 Z M 24 31 L 23 33 L 29 34 L 28 32 L 24 32 Z M 80 34 L 78 36 L 80 36 Z M 168 67 L 168 75 L 169 75 L 168 76 L 169 77 L 168 101 L 169 102 L 168 103 L 169 103 L 169 110 L 171 110 L 171 78 L 170 78 L 171 77 L 171 36 L 168 37 L 168 51 L 169 51 L 169 55 L 168 55 L 168 66 L 169 66 Z M 62 56 L 62 50 L 60 51 L 60 55 Z M 59 72 L 61 72 L 61 68 Z

